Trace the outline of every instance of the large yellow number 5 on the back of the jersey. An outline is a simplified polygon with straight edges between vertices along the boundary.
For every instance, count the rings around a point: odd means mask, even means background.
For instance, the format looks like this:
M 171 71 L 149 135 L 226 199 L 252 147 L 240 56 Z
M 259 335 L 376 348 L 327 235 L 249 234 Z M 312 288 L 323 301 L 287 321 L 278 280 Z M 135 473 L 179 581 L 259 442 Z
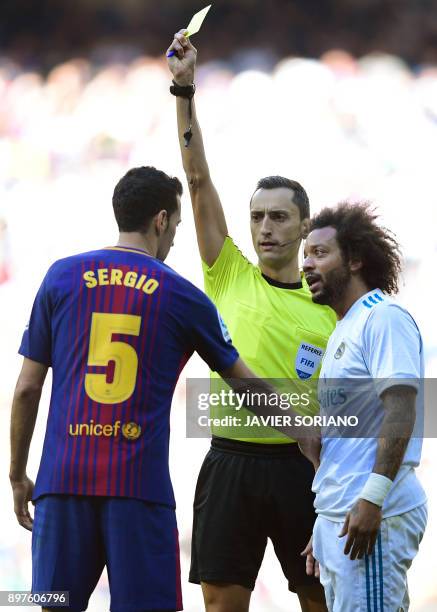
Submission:
M 137 315 L 93 312 L 91 319 L 88 366 L 107 368 L 115 363 L 114 376 L 108 382 L 107 373 L 86 374 L 85 391 L 95 402 L 118 404 L 130 398 L 135 390 L 138 355 L 127 342 L 113 341 L 113 334 L 139 336 L 141 317 Z

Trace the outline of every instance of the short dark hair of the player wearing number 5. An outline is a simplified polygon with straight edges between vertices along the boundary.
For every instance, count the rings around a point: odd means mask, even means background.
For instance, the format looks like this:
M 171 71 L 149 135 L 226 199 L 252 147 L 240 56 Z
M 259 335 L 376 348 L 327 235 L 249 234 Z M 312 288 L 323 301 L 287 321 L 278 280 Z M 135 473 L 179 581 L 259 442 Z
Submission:
M 120 232 L 143 232 L 152 218 L 166 210 L 170 217 L 177 210 L 182 184 L 176 177 L 153 166 L 132 168 L 119 180 L 112 206 Z

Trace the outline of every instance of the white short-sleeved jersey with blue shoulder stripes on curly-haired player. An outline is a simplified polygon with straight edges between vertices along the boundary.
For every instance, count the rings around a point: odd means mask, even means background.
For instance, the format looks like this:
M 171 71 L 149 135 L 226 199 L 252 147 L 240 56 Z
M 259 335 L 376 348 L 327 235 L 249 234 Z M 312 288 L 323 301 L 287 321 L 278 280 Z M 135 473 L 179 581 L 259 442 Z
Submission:
M 358 499 L 376 460 L 384 416 L 380 395 L 400 384 L 399 379 L 418 391 L 416 426 L 384 501 L 383 516 L 402 514 L 426 501 L 414 470 L 422 451 L 423 377 L 423 344 L 411 315 L 379 289 L 360 297 L 329 339 L 318 395 L 322 415 L 356 415 L 363 437 L 330 437 L 332 430 L 322 436 L 321 464 L 313 483 L 317 513 L 343 520 Z M 367 380 L 360 384 L 355 379 Z

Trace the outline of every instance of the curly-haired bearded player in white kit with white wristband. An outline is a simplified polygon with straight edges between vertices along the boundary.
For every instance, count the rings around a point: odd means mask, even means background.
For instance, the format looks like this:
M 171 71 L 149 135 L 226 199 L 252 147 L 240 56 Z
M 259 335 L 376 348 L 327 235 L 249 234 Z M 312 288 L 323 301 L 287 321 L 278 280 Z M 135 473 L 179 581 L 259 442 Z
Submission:
M 369 206 L 341 204 L 312 219 L 305 251 L 313 301 L 338 318 L 320 374 L 321 412 L 365 420 L 362 437 L 322 439 L 313 554 L 327 605 L 333 612 L 406 611 L 407 570 L 427 508 L 415 474 L 423 344 L 411 315 L 389 297 L 398 289 L 399 247 Z M 311 544 L 306 552 L 308 571 L 318 573 Z

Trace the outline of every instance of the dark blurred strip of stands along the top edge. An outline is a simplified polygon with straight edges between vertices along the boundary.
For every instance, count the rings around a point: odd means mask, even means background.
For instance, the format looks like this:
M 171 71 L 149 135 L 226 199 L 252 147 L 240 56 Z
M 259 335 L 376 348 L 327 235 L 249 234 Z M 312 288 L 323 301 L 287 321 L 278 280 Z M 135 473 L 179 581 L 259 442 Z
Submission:
M 199 0 L 3 0 L 0 48 L 26 67 L 78 53 L 96 60 L 160 55 L 169 32 L 206 5 Z M 318 57 L 341 47 L 373 49 L 410 65 L 437 62 L 435 0 L 215 0 L 205 59 L 268 49 L 276 57 Z

